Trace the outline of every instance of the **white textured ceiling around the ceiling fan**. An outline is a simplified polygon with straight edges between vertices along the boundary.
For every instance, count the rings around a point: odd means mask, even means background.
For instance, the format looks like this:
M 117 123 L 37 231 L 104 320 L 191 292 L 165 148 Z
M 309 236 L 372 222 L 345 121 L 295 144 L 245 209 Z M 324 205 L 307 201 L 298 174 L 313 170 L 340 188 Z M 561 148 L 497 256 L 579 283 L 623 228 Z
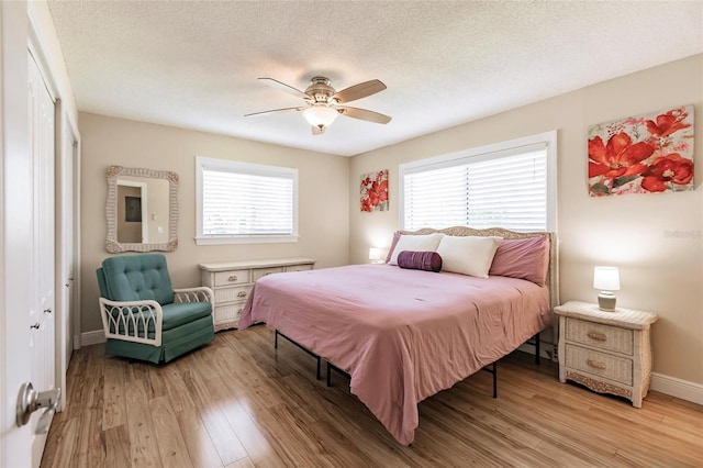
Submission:
M 703 52 L 702 1 L 49 1 L 80 111 L 356 155 Z M 313 136 L 270 77 L 388 89 Z M 666 92 L 652 90 L 652 92 Z

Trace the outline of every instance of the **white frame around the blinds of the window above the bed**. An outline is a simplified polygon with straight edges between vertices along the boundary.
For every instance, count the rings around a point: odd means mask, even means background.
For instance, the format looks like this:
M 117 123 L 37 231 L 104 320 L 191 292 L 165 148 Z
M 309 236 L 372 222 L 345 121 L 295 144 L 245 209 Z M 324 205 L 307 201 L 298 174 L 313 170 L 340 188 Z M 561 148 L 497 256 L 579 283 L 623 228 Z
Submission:
M 429 158 L 404 163 L 399 166 L 399 226 L 405 230 L 405 175 L 425 170 L 459 166 L 496 157 L 526 153 L 531 149 L 547 151 L 547 232 L 557 232 L 557 131 L 462 149 Z

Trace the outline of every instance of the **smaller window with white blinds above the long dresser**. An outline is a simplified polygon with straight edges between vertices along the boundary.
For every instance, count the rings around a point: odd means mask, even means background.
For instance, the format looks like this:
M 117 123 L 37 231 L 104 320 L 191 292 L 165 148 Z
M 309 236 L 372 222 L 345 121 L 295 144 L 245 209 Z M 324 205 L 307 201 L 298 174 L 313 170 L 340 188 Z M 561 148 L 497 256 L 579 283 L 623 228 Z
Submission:
M 202 244 L 298 241 L 298 169 L 196 158 Z

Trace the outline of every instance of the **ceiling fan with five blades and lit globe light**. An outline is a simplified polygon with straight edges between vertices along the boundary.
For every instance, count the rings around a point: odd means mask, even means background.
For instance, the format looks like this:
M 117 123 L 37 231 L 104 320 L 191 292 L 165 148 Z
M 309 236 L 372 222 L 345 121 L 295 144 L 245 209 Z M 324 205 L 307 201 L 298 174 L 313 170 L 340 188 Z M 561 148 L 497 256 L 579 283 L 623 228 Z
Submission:
M 337 115 L 346 115 L 354 119 L 383 124 L 391 121 L 390 116 L 378 112 L 341 105 L 384 90 L 386 85 L 377 79 L 350 86 L 342 91 L 336 91 L 332 86 L 330 86 L 331 81 L 325 77 L 312 78 L 310 80 L 311 85 L 305 88 L 304 91 L 275 80 L 274 78 L 259 78 L 259 81 L 272 86 L 283 92 L 288 92 L 289 94 L 302 98 L 303 101 L 305 101 L 305 105 L 254 112 L 244 116 L 258 116 L 274 112 L 302 112 L 303 118 L 305 118 L 308 123 L 312 126 L 313 135 L 323 134 L 325 129 L 334 122 Z

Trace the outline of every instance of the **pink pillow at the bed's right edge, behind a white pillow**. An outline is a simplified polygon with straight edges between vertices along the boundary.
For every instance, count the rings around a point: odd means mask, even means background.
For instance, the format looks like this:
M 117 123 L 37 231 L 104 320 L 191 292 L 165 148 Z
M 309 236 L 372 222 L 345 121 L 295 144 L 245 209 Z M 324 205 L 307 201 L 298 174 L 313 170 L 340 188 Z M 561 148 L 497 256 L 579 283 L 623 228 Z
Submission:
M 489 270 L 491 276 L 520 278 L 544 286 L 549 268 L 549 237 L 501 241 Z

